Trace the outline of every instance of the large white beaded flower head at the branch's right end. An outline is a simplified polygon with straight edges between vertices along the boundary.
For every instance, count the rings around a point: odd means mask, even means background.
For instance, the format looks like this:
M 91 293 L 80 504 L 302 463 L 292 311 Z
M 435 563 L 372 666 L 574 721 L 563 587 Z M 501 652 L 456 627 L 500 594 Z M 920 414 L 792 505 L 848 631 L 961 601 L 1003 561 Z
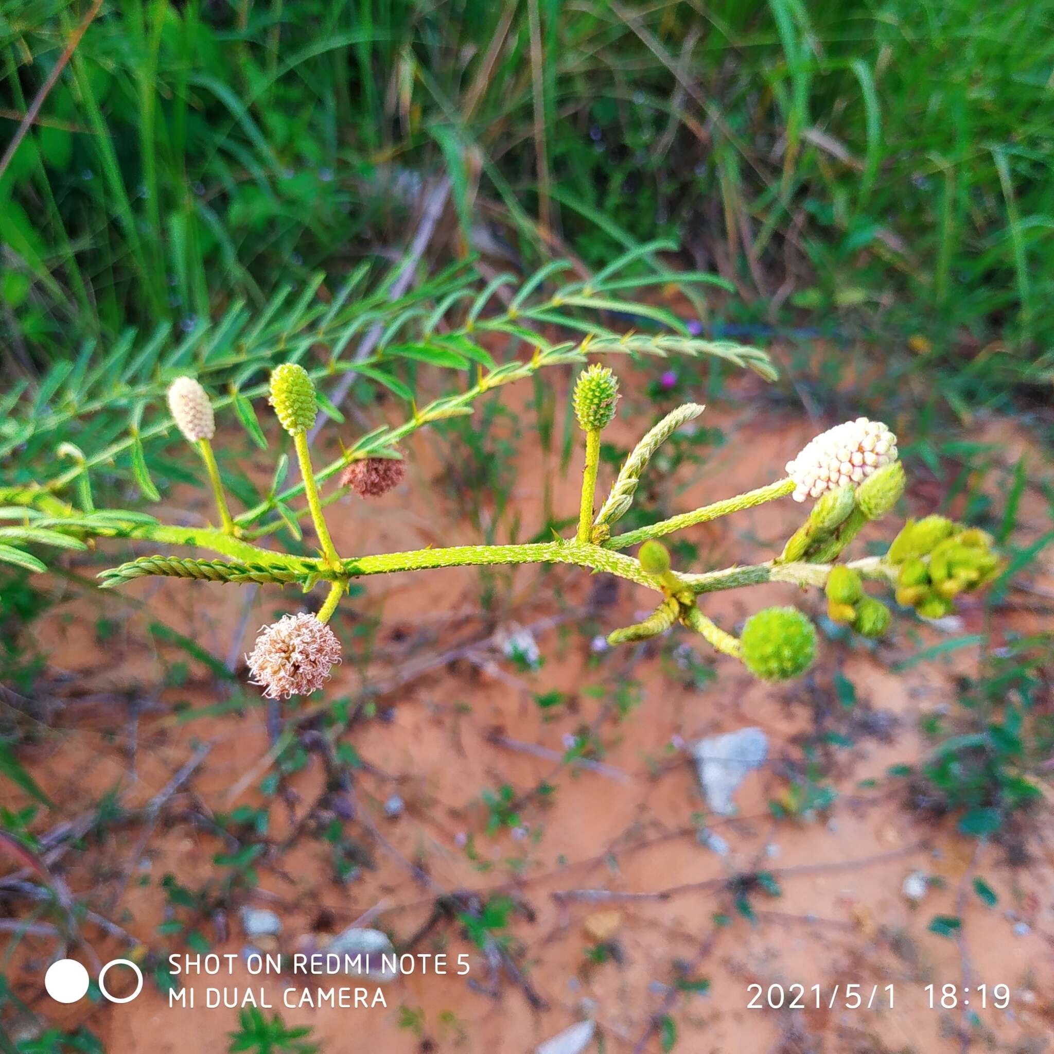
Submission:
M 787 462 L 794 500 L 814 501 L 826 490 L 863 483 L 897 460 L 897 437 L 880 421 L 857 417 L 821 432 Z

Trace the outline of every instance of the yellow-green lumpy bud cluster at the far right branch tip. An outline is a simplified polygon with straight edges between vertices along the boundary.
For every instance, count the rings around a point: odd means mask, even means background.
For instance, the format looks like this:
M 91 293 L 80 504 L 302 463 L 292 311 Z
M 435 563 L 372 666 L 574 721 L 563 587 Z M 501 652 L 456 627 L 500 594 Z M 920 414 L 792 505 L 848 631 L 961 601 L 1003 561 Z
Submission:
M 944 516 L 909 521 L 886 560 L 899 567 L 897 603 L 924 619 L 949 614 L 955 597 L 988 585 L 1002 569 L 990 534 Z

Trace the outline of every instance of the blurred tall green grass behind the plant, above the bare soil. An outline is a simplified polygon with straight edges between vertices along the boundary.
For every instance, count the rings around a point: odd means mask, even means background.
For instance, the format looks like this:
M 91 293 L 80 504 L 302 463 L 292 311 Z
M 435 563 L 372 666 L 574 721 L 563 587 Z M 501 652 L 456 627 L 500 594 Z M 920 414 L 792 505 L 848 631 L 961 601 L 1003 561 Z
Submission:
M 1049 392 L 1047 5 L 4 0 L 0 142 L 94 8 L 0 177 L 23 369 L 397 251 L 446 175 L 453 253 L 671 235 L 718 321 L 910 339 L 959 410 Z

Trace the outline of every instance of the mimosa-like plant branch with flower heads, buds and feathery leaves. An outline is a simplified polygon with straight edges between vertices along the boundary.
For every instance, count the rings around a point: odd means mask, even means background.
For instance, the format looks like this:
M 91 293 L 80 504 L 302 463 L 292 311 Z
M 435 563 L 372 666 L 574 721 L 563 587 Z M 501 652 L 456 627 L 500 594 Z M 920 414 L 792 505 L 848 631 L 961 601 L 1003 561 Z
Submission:
M 536 282 L 531 279 L 529 289 L 534 285 Z M 574 414 L 584 433 L 585 469 L 577 528 L 571 536 L 531 544 L 469 544 L 374 554 L 338 552 L 326 521 L 326 508 L 333 501 L 348 488 L 364 496 L 386 493 L 403 476 L 401 441 L 431 422 L 470 413 L 473 401 L 486 392 L 530 376 L 544 367 L 582 363 L 590 353 L 633 351 L 664 355 L 681 352 L 719 355 L 774 375 L 767 357 L 755 349 L 694 339 L 680 333 L 620 336 L 597 325 L 580 326 L 588 332 L 577 344 L 551 345 L 538 335 L 536 348 L 529 360 L 512 359 L 496 365 L 472 343 L 473 328 L 489 326 L 497 332 L 514 333 L 520 338 L 525 338 L 526 334 L 533 338 L 534 332 L 525 328 L 528 316 L 536 324 L 567 325 L 565 316 L 553 314 L 562 305 L 589 304 L 610 309 L 619 301 L 604 299 L 593 304 L 591 298 L 596 296 L 596 289 L 579 285 L 569 287 L 570 292 L 565 289 L 541 306 L 529 308 L 524 305 L 526 293 L 521 292 L 513 298 L 513 308 L 497 316 L 495 323 L 480 314 L 492 286 L 476 298 L 458 333 L 433 336 L 438 318 L 438 314 L 433 313 L 427 321 L 425 340 L 417 345 L 393 346 L 393 351 L 436 365 L 445 360 L 444 356 L 453 356 L 450 362 L 464 362 L 466 367 L 470 358 L 476 359 L 477 380 L 466 391 L 436 399 L 423 409 L 413 403 L 413 414 L 406 423 L 363 436 L 353 446 L 343 448 L 339 458 L 316 470 L 312 465 L 309 432 L 316 425 L 319 408 L 337 419 L 339 413 L 316 388 L 316 379 L 327 371 L 309 372 L 295 360 L 310 347 L 311 335 L 307 335 L 294 360 L 271 369 L 266 388 L 278 422 L 292 440 L 300 482 L 281 491 L 276 483 L 264 502 L 232 514 L 212 450 L 215 411 L 233 408 L 250 434 L 266 446 L 251 396 L 247 397 L 234 387 L 228 395 L 213 397 L 199 379 L 180 375 L 168 384 L 171 418 L 168 423 L 153 425 L 151 430 L 155 434 L 163 433 L 174 425 L 197 449 L 213 491 L 219 525 L 183 527 L 160 523 L 138 511 L 97 509 L 90 471 L 104 461 L 106 452 L 89 457 L 73 444 L 64 444 L 69 449 L 63 452 L 74 462 L 72 468 L 46 485 L 0 488 L 0 516 L 6 524 L 0 526 L 0 560 L 42 571 L 44 565 L 25 551 L 24 546 L 41 544 L 83 549 L 98 539 L 126 538 L 150 541 L 165 550 L 175 546 L 207 550 L 218 559 L 172 551 L 145 555 L 103 571 L 100 578 L 104 587 L 148 575 L 279 586 L 295 584 L 305 592 L 325 587 L 326 599 L 317 614 L 291 612 L 265 627 L 247 657 L 254 683 L 272 698 L 307 695 L 324 684 L 332 666 L 339 662 L 340 653 L 338 640 L 328 623 L 349 584 L 374 574 L 554 563 L 606 571 L 659 596 L 658 606 L 650 617 L 639 624 L 611 630 L 608 638 L 611 644 L 646 640 L 680 624 L 702 637 L 716 650 L 741 661 L 756 676 L 778 681 L 801 675 L 814 660 L 816 631 L 808 619 L 793 607 L 773 607 L 752 616 L 741 635 L 736 637 L 705 613 L 708 593 L 764 582 L 823 589 L 832 619 L 851 625 L 864 636 L 877 637 L 886 630 L 891 612 L 884 603 L 865 592 L 865 583 L 892 587 L 899 604 L 915 608 L 923 618 L 938 618 L 952 610 L 958 593 L 978 589 L 998 573 L 1000 564 L 991 538 L 941 516 L 909 522 L 883 555 L 843 560 L 846 548 L 861 528 L 886 516 L 904 487 L 896 436 L 885 425 L 864 417 L 818 435 L 787 463 L 787 474 L 783 479 L 668 520 L 618 532 L 618 523 L 632 505 L 652 455 L 677 428 L 698 417 L 703 407 L 686 404 L 651 428 L 626 458 L 606 497 L 598 503 L 601 434 L 616 414 L 619 385 L 611 370 L 597 363 L 582 370 L 573 392 Z M 327 318 L 333 310 L 327 313 Z M 524 320 L 515 320 L 518 311 L 522 312 Z M 401 324 L 402 318 L 399 316 Z M 389 338 L 393 338 L 396 329 L 390 327 Z M 346 343 L 341 343 L 340 348 Z M 384 349 L 378 355 L 383 354 Z M 203 362 L 199 373 L 208 375 L 208 353 Z M 336 369 L 336 363 L 334 357 L 330 372 Z M 243 370 L 242 379 L 258 368 L 257 363 Z M 349 368 L 382 377 L 392 390 L 401 384 L 370 363 L 349 364 Z M 144 391 L 149 392 L 149 386 Z M 262 392 L 251 393 L 255 394 Z M 128 438 L 118 441 L 108 450 L 112 457 L 118 450 L 131 449 L 132 465 L 142 490 L 148 496 L 157 496 L 156 492 L 152 493 L 154 488 L 145 468 L 138 426 L 142 403 L 137 407 Z M 53 417 L 59 419 L 61 415 L 53 414 Z M 279 466 L 276 481 L 282 474 L 284 468 Z M 334 476 L 338 477 L 338 485 L 324 494 L 323 488 Z M 76 504 L 63 496 L 66 488 L 74 490 Z M 295 505 L 301 497 L 302 505 Z M 763 563 L 694 573 L 675 569 L 668 551 L 659 541 L 696 524 L 784 497 L 813 505 L 783 550 Z M 259 544 L 284 527 L 299 536 L 299 522 L 304 519 L 310 519 L 314 528 L 317 552 L 289 553 Z M 636 555 L 624 551 L 633 548 Z

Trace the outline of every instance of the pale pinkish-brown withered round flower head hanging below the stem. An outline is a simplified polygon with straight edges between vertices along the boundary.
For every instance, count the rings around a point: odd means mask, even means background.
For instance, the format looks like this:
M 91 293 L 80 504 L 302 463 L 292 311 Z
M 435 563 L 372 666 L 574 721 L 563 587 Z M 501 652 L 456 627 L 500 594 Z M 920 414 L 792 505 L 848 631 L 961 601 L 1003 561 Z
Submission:
M 313 614 L 284 614 L 260 630 L 246 661 L 251 683 L 260 685 L 268 699 L 310 696 L 340 661 L 340 642 Z

